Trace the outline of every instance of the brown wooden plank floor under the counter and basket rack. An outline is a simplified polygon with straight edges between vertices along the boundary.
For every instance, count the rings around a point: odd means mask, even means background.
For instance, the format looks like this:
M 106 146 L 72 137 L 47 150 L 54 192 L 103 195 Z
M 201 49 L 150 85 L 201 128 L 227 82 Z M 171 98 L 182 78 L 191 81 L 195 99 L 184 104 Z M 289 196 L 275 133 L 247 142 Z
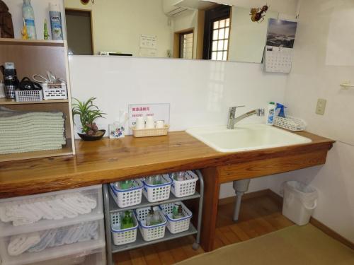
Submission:
M 232 221 L 234 204 L 219 206 L 215 248 L 249 240 L 294 225 L 282 216 L 278 200 L 263 194 L 243 201 L 239 223 Z M 204 251 L 192 249 L 194 237 L 162 242 L 149 247 L 130 250 L 114 255 L 115 264 L 174 264 Z

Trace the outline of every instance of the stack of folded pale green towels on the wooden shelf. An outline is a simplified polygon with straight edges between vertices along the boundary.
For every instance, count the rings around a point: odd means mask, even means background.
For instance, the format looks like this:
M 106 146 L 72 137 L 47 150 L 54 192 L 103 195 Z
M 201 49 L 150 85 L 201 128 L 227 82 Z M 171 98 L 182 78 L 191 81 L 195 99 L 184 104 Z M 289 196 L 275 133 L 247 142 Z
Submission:
M 62 112 L 18 112 L 0 107 L 0 154 L 61 149 Z

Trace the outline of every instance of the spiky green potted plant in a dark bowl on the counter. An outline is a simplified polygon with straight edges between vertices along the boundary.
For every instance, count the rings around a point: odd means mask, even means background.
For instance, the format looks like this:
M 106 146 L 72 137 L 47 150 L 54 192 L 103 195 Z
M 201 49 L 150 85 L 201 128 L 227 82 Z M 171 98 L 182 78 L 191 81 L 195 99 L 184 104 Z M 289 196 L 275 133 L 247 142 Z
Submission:
M 76 102 L 73 102 L 72 105 L 72 114 L 73 116 L 79 115 L 80 122 L 82 126 L 82 131 L 79 136 L 84 141 L 96 141 L 101 139 L 105 134 L 105 130 L 99 130 L 95 119 L 97 118 L 104 118 L 103 115 L 105 113 L 101 112 L 100 109 L 96 105 L 93 104 L 93 100 L 96 98 L 89 98 L 86 102 L 81 102 L 74 98 Z

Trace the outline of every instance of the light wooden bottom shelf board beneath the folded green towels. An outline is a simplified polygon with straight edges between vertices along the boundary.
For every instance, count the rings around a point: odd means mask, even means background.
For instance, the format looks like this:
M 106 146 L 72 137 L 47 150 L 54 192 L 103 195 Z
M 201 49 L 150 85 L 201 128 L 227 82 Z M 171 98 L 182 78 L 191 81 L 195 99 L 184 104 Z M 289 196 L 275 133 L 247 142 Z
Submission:
M 0 155 L 0 162 L 14 161 L 14 160 L 26 160 L 33 158 L 52 158 L 55 156 L 72 155 L 72 140 L 67 139 L 67 144 L 59 150 L 48 151 L 35 151 L 28 153 L 10 153 L 7 155 Z

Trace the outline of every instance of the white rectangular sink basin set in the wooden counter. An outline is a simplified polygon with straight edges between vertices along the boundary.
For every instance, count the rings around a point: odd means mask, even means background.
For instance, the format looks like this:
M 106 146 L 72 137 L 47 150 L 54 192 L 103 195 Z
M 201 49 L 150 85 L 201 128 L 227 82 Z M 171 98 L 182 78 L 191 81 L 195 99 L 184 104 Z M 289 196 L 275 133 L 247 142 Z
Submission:
M 312 141 L 265 124 L 236 124 L 233 130 L 226 126 L 201 127 L 188 129 L 186 132 L 222 153 L 292 146 Z

